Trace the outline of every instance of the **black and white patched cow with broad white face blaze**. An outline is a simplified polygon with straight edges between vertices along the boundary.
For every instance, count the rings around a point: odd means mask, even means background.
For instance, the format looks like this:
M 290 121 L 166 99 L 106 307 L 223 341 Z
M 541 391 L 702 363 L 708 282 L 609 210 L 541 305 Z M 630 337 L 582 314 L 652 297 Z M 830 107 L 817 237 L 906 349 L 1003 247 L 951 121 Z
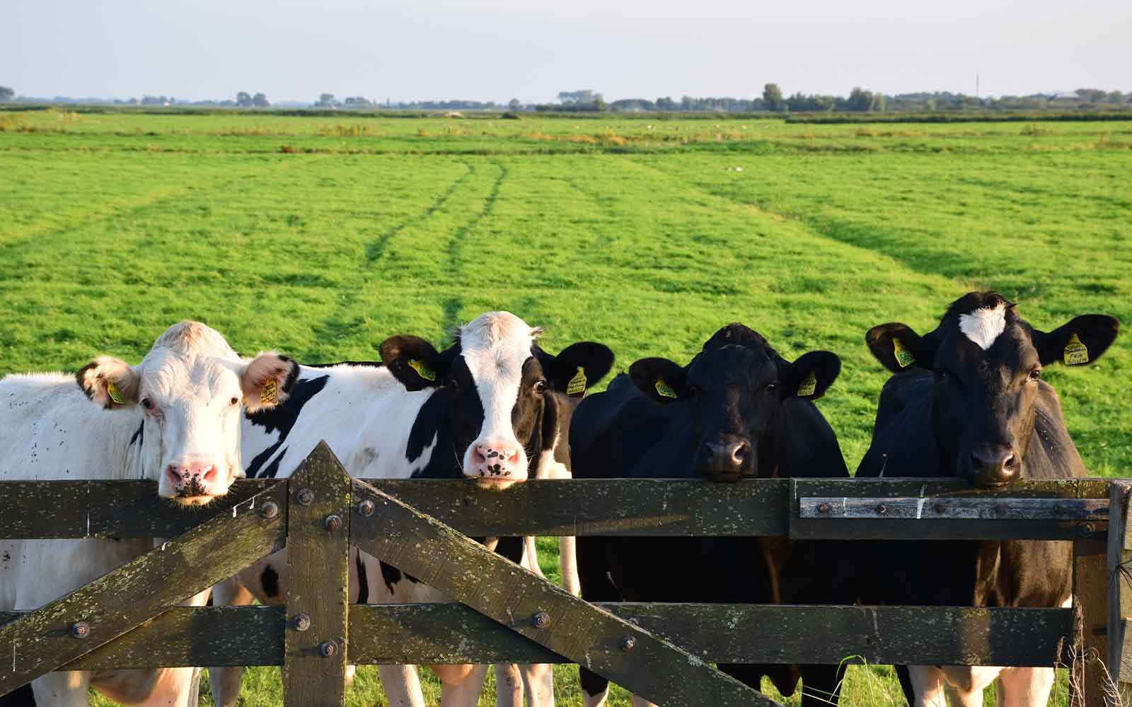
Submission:
M 512 313 L 489 312 L 461 327 L 441 352 L 419 337 L 394 336 L 381 343 L 379 364 L 302 367 L 288 404 L 245 421 L 247 474 L 286 476 L 319 440 L 358 477 L 470 477 L 505 489 L 537 469 L 556 467 L 566 442 L 560 396 L 581 395 L 598 382 L 614 354 L 601 344 L 580 342 L 551 355 L 535 344 L 539 333 Z M 509 559 L 524 559 L 521 538 L 499 545 Z M 285 559 L 273 555 L 241 572 L 239 585 L 221 587 L 214 601 L 247 601 L 241 585 L 260 601 L 281 601 L 283 564 Z M 355 594 L 353 601 L 448 601 L 384 563 L 378 569 L 363 558 L 358 574 L 354 586 L 365 586 L 367 596 Z M 486 666 L 434 670 L 445 706 L 475 704 Z M 238 671 L 216 671 L 217 705 L 234 704 Z M 423 706 L 414 670 L 388 665 L 379 672 L 392 705 Z M 552 704 L 550 680 L 549 666 L 524 674 L 529 697 L 539 696 L 532 701 Z

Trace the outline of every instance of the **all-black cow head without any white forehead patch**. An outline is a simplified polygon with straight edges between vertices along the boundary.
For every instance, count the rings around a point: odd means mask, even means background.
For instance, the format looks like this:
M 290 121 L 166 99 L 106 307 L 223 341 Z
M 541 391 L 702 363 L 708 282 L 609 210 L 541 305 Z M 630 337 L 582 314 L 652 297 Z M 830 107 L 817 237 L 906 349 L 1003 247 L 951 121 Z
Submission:
M 812 351 L 783 360 L 758 333 L 731 324 L 712 336 L 686 367 L 642 359 L 629 367 L 633 383 L 661 405 L 685 405 L 696 441 L 696 472 L 715 481 L 769 476 L 769 439 L 782 403 L 817 399 L 837 379 L 841 360 Z

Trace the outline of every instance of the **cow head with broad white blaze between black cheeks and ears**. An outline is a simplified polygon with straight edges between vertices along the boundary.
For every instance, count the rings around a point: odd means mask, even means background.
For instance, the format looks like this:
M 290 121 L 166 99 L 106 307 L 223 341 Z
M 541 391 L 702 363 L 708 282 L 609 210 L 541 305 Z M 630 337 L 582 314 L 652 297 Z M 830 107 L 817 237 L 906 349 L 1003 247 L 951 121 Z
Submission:
M 488 312 L 461 327 L 443 352 L 415 336 L 380 346 L 381 361 L 405 388 L 447 396 L 461 471 L 494 488 L 525 481 L 531 458 L 554 446 L 554 391 L 581 395 L 614 363 L 614 353 L 593 342 L 548 354 L 534 343 L 539 331 L 509 312 Z

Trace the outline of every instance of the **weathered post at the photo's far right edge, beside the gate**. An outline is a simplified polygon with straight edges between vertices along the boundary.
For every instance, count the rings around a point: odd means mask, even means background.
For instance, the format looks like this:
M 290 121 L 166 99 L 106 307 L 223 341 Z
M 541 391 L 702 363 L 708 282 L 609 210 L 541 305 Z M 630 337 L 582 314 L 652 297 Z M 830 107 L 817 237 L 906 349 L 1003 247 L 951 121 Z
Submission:
M 1116 683 L 1121 702 L 1132 707 L 1132 650 L 1125 639 L 1132 618 L 1132 534 L 1129 533 L 1129 498 L 1132 481 L 1108 485 L 1108 672 Z

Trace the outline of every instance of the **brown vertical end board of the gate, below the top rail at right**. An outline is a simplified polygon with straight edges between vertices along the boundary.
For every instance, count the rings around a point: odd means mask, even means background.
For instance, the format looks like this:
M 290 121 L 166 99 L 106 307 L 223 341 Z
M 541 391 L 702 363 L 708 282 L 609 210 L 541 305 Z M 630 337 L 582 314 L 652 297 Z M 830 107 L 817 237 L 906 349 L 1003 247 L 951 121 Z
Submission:
M 1083 658 L 1083 680 L 1079 684 L 1083 690 L 1079 696 L 1074 696 L 1074 686 L 1071 681 L 1070 704 L 1081 707 L 1106 707 L 1107 673 L 1104 663 L 1108 656 L 1106 550 L 1107 543 L 1098 540 L 1081 540 L 1073 543 L 1074 609 L 1080 609 L 1082 618 L 1082 640 L 1077 648 Z

